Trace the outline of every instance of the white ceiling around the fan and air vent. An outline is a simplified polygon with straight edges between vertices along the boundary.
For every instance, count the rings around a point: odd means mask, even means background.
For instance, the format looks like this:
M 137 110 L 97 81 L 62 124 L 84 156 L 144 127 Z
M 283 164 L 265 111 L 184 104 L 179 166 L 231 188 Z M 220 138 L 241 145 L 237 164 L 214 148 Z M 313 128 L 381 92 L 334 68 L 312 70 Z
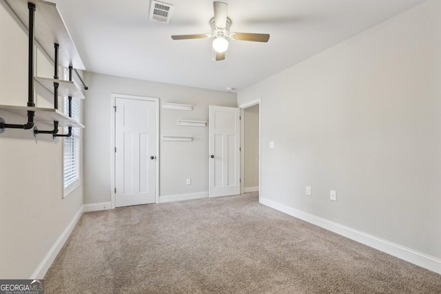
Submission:
M 150 0 L 50 0 L 58 4 L 90 72 L 225 91 L 243 90 L 424 0 L 240 0 L 228 3 L 230 32 L 270 34 L 268 43 L 229 41 L 212 62 L 213 3 L 165 0 L 170 24 L 150 21 Z

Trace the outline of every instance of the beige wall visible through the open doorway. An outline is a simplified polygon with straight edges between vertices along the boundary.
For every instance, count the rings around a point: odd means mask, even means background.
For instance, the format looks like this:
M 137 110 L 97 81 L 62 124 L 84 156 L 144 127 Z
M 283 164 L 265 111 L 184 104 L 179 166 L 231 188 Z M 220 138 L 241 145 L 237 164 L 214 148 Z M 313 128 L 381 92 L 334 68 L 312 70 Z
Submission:
M 259 186 L 259 105 L 244 109 L 244 191 Z

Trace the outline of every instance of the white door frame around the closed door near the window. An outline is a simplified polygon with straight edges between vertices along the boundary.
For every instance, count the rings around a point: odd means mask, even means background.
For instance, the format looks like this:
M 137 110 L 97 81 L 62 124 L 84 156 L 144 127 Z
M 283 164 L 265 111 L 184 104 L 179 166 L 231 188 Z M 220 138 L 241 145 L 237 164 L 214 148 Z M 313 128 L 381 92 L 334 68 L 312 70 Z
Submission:
M 110 132 L 110 154 L 111 154 L 111 167 L 110 167 L 110 176 L 111 176 L 111 187 L 112 190 L 110 191 L 111 193 L 111 199 L 112 199 L 112 209 L 114 209 L 116 207 L 116 195 L 115 195 L 115 176 L 116 176 L 116 169 L 115 169 L 115 160 L 116 160 L 116 155 L 115 155 L 115 147 L 116 147 L 116 141 L 115 141 L 115 132 L 116 132 L 116 119 L 115 119 L 115 107 L 116 107 L 116 98 L 125 98 L 125 99 L 136 99 L 136 100 L 143 100 L 143 101 L 153 101 L 155 103 L 155 132 L 156 132 L 156 136 L 155 136 L 155 140 L 156 140 L 156 160 L 155 160 L 155 169 L 156 169 L 156 174 L 155 174 L 155 202 L 159 203 L 159 98 L 152 98 L 152 97 L 146 97 L 146 96 L 134 96 L 134 95 L 126 95 L 126 94 L 114 94 L 112 93 L 112 99 L 110 99 L 111 101 L 111 112 L 112 115 L 111 120 L 110 120 L 110 125 L 112 126 L 111 132 Z

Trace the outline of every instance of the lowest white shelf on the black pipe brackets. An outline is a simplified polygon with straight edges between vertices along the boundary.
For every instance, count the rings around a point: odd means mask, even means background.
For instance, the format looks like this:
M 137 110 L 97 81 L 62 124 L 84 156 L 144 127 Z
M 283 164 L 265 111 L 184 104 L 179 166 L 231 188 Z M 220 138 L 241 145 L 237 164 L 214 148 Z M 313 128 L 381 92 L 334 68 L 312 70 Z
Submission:
M 0 105 L 0 109 L 20 116 L 28 116 L 28 111 L 35 112 L 35 120 L 48 125 L 53 125 L 54 121 L 58 121 L 60 127 L 84 127 L 81 123 L 54 108 Z

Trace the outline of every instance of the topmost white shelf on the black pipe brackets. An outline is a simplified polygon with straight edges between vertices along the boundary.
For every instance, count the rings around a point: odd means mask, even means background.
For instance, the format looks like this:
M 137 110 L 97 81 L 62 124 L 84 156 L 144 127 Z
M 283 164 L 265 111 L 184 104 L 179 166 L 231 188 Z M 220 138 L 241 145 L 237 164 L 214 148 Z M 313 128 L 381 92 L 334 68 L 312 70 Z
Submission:
M 17 17 L 29 30 L 28 2 L 34 3 L 36 6 L 35 23 L 38 25 L 34 26 L 35 39 L 41 48 L 54 61 L 54 43 L 57 43 L 60 45 L 59 65 L 85 70 L 83 60 L 76 50 L 74 41 L 55 3 L 42 0 L 6 0 L 8 6 L 14 10 Z

